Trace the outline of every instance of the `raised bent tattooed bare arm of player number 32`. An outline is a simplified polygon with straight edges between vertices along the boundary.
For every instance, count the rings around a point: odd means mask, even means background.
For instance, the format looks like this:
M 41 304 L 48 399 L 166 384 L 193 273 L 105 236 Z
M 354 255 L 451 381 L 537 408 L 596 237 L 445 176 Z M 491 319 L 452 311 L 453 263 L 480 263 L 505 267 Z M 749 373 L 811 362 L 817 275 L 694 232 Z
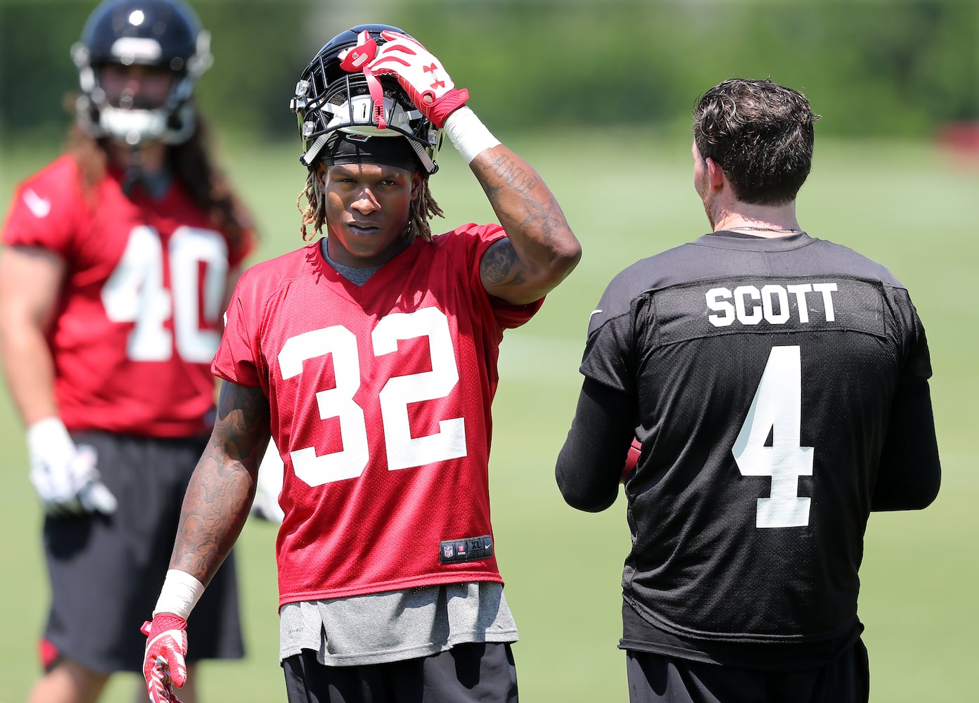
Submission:
M 507 238 L 480 262 L 491 296 L 525 305 L 564 280 L 582 258 L 582 245 L 536 170 L 502 144 L 470 164 Z

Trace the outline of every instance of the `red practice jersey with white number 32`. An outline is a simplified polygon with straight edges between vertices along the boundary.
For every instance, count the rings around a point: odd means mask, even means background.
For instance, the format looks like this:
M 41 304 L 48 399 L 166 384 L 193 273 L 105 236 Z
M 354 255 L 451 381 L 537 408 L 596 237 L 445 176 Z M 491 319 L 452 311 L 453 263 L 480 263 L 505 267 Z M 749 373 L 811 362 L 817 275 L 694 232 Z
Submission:
M 489 522 L 489 406 L 503 330 L 542 301 L 490 298 L 467 224 L 416 239 L 363 286 L 319 242 L 242 276 L 215 375 L 261 386 L 282 454 L 280 604 L 501 582 Z

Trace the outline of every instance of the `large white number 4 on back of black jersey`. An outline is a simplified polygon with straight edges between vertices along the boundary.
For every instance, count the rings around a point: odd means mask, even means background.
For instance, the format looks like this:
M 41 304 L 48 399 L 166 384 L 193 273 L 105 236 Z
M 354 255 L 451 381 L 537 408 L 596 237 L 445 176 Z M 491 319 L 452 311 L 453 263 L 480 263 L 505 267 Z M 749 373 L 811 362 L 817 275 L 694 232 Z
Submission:
M 811 498 L 799 496 L 799 477 L 813 475 L 813 447 L 800 446 L 801 431 L 800 349 L 773 347 L 731 448 L 742 476 L 771 477 L 770 497 L 758 499 L 756 527 L 809 525 Z

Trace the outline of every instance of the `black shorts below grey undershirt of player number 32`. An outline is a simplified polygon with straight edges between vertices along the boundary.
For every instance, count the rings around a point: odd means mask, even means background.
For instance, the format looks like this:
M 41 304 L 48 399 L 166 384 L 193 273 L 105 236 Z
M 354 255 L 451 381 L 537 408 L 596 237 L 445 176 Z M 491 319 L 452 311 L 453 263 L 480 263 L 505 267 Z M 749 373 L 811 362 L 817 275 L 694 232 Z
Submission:
M 517 703 L 508 642 L 456 644 L 439 654 L 389 664 L 327 667 L 316 652 L 282 662 L 289 703 Z

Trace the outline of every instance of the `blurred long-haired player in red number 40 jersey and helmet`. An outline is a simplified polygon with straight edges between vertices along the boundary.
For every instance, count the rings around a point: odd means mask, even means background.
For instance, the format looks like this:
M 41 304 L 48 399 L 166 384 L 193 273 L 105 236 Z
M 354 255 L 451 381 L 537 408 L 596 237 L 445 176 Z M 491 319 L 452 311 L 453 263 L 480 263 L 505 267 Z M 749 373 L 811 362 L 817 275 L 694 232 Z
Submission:
M 109 0 L 72 58 L 70 149 L 14 193 L 0 258 L 4 369 L 46 513 L 52 602 L 29 698 L 45 703 L 141 671 L 138 623 L 213 426 L 210 361 L 254 239 L 192 99 L 211 57 L 188 6 Z M 212 587 L 194 661 L 243 655 L 233 564 Z

